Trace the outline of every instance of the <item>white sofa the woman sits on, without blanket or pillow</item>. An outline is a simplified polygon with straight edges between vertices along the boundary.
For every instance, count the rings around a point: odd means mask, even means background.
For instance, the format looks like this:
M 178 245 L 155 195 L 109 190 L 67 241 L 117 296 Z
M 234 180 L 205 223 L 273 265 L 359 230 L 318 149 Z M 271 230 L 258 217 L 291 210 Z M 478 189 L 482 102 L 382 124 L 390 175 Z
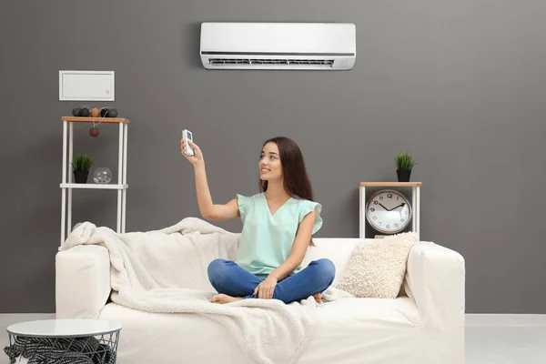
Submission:
M 303 265 L 329 258 L 335 285 L 358 238 L 315 238 Z M 183 262 L 181 262 L 183 264 Z M 237 363 L 252 361 L 221 324 L 197 314 L 150 313 L 117 305 L 110 261 L 101 246 L 56 255 L 57 319 L 116 319 L 123 324 L 117 362 Z M 410 251 L 399 298 L 339 298 L 319 309 L 318 329 L 298 364 L 455 364 L 464 362 L 464 259 L 431 242 Z

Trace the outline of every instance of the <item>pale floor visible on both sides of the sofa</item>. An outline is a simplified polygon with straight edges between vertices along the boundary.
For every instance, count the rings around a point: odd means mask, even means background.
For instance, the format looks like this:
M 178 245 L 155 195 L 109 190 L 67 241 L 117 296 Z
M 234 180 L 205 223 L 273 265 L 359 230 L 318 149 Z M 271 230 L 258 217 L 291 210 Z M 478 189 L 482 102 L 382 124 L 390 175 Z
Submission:
M 0 364 L 8 364 L 5 328 L 51 314 L 0 314 Z M 466 364 L 546 363 L 546 315 L 467 315 Z

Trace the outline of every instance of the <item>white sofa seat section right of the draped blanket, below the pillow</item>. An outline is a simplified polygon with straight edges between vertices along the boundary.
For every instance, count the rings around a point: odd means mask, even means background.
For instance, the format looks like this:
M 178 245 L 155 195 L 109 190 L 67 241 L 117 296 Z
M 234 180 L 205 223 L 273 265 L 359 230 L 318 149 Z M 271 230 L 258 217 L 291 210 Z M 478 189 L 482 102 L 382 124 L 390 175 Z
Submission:
M 302 359 L 305 363 L 417 363 L 421 335 L 420 313 L 410 298 L 339 298 L 319 310 L 318 332 Z

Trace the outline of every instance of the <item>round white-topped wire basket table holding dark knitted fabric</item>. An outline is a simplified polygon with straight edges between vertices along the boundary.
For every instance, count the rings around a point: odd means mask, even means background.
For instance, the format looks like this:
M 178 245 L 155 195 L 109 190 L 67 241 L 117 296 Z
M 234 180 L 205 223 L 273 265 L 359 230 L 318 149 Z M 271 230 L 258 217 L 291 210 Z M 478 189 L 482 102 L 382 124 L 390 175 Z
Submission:
M 45 319 L 7 327 L 10 363 L 18 359 L 59 364 L 116 363 L 122 326 L 103 319 Z M 18 362 L 18 361 L 17 361 Z

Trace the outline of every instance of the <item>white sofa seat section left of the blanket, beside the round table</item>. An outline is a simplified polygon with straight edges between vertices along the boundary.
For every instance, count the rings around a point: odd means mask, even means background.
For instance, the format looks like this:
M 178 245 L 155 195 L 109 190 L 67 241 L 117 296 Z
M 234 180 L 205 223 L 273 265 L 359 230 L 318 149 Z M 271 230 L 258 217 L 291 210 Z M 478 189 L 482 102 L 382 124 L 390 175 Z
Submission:
M 99 319 L 116 319 L 123 325 L 117 348 L 119 364 L 255 364 L 228 329 L 198 314 L 147 312 L 111 302 Z

